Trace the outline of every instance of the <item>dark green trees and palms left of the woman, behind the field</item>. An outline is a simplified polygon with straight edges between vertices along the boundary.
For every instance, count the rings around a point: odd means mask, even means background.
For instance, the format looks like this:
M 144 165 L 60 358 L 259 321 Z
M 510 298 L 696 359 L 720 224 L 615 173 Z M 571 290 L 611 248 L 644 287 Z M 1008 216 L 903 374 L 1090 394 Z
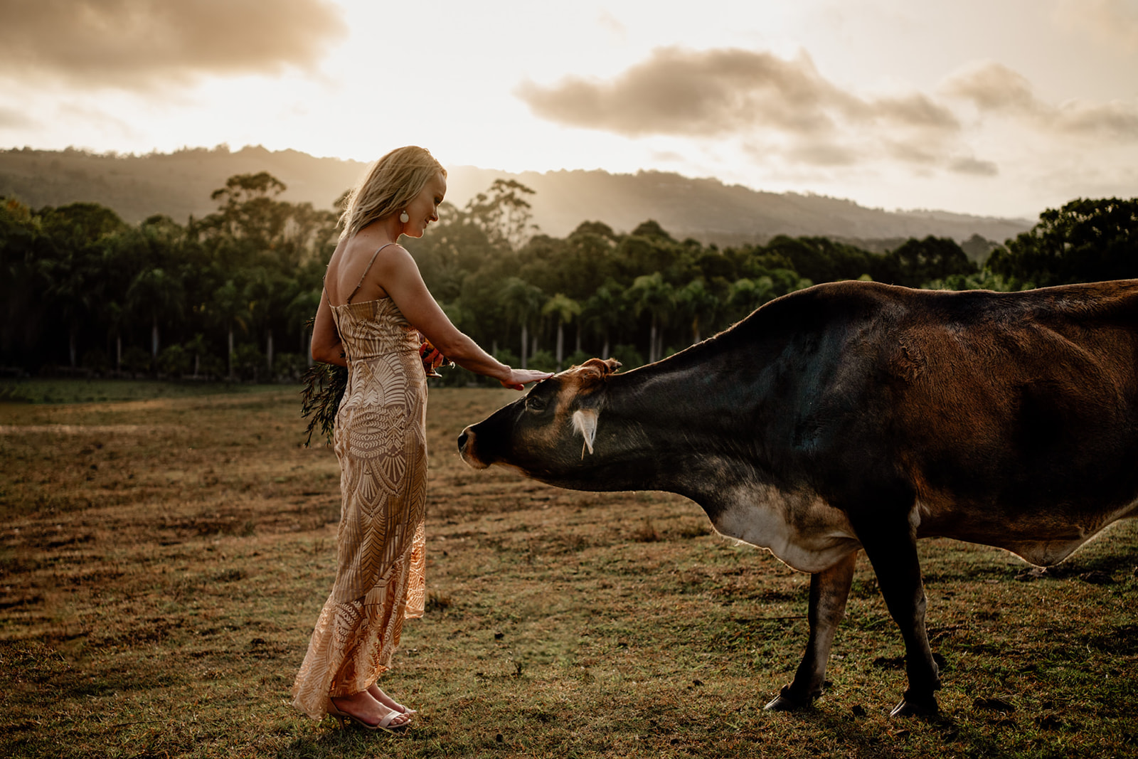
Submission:
M 157 215 L 137 226 L 96 204 L 33 211 L 0 203 L 0 364 L 76 366 L 76 357 L 131 348 L 122 369 L 162 371 L 154 354 L 195 335 L 193 366 L 228 363 L 228 346 L 296 333 L 315 311 L 335 214 L 282 203 L 267 174 L 238 175 L 216 214 L 181 226 Z M 291 345 L 291 343 L 290 343 Z M 85 362 L 107 373 L 112 362 Z M 216 372 L 224 376 L 226 371 Z

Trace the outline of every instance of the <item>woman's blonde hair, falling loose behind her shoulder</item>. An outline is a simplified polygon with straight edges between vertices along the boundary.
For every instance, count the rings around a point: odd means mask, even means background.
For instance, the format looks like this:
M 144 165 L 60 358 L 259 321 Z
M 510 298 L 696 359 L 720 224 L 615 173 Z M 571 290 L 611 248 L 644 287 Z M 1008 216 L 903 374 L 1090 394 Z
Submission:
M 368 224 L 403 211 L 435 174 L 446 176 L 446 170 L 426 148 L 409 145 L 391 150 L 348 193 L 340 238 L 352 238 Z

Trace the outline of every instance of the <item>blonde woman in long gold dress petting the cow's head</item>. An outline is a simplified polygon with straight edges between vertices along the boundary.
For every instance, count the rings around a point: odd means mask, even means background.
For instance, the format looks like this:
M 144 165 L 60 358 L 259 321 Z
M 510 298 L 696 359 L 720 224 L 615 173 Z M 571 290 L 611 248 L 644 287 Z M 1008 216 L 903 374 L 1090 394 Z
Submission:
M 446 171 L 422 148 L 393 150 L 348 198 L 328 264 L 312 357 L 347 366 L 332 444 L 340 462 L 337 572 L 316 619 L 294 704 L 368 729 L 406 727 L 414 710 L 377 684 L 403 620 L 421 617 L 426 583 L 427 380 L 422 337 L 443 355 L 517 390 L 545 372 L 517 370 L 460 332 L 438 306 L 401 236 L 438 221 Z

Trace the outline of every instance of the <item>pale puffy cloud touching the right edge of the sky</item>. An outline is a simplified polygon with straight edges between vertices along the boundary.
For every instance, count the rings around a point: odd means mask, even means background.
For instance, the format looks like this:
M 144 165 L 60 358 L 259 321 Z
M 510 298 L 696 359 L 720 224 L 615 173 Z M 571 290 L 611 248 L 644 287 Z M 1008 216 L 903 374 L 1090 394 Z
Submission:
M 1019 118 L 1041 132 L 1138 141 L 1138 101 L 1070 100 L 1056 106 L 1038 98 L 1026 79 L 995 61 L 971 64 L 945 80 L 941 90 L 971 100 L 981 113 Z

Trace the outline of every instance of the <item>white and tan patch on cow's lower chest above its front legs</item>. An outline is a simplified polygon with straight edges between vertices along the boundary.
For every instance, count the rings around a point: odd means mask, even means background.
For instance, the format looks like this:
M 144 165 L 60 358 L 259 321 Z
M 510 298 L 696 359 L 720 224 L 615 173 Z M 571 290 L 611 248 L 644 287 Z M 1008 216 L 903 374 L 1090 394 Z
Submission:
M 861 544 L 846 512 L 809 490 L 737 487 L 712 523 L 726 537 L 767 548 L 803 572 L 820 572 Z

